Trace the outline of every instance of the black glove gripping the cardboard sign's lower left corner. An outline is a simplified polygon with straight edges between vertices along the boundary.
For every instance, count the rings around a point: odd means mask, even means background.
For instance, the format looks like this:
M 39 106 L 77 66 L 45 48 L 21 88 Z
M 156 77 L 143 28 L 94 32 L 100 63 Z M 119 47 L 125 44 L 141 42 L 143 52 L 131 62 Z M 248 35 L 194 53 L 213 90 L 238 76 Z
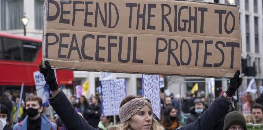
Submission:
M 39 65 L 39 72 L 42 73 L 45 77 L 46 83 L 49 85 L 51 91 L 58 89 L 58 84 L 55 77 L 55 71 L 51 68 L 48 61 L 45 61 L 44 64 L 47 68 L 43 68 L 42 62 Z

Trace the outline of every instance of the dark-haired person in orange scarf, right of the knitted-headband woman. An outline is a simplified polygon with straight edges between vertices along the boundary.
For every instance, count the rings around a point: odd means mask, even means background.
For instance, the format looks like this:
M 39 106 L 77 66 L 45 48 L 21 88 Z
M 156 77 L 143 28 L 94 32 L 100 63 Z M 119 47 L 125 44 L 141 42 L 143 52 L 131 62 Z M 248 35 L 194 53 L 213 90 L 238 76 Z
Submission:
M 164 109 L 161 124 L 164 126 L 165 130 L 175 130 L 182 126 L 177 112 L 178 111 L 174 106 L 168 106 Z

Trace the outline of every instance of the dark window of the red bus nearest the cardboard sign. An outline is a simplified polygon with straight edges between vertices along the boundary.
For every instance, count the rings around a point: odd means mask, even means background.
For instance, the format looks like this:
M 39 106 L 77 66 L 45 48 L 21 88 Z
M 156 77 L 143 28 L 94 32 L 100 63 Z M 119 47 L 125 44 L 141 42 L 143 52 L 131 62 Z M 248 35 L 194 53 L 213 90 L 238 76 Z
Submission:
M 39 49 L 40 49 L 40 43 L 23 42 L 23 52 L 24 52 L 23 61 L 33 62 Z

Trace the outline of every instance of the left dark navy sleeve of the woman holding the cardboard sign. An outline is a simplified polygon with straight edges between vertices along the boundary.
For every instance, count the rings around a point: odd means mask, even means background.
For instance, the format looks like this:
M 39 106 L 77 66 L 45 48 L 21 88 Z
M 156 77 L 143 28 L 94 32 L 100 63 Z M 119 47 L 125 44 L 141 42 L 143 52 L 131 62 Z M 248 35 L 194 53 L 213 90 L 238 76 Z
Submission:
M 96 130 L 75 111 L 62 91 L 55 97 L 50 94 L 49 102 L 68 130 Z

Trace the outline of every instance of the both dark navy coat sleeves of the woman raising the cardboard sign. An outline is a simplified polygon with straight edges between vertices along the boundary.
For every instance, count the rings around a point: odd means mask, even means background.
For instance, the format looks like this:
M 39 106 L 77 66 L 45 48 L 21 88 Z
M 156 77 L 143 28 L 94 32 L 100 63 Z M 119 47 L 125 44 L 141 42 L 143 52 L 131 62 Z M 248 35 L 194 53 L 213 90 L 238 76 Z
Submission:
M 62 91 L 55 97 L 50 95 L 49 102 L 68 130 L 96 130 L 75 111 Z M 219 130 L 217 128 L 221 126 L 218 124 L 226 116 L 230 104 L 231 102 L 227 98 L 218 97 L 197 120 L 177 130 Z

